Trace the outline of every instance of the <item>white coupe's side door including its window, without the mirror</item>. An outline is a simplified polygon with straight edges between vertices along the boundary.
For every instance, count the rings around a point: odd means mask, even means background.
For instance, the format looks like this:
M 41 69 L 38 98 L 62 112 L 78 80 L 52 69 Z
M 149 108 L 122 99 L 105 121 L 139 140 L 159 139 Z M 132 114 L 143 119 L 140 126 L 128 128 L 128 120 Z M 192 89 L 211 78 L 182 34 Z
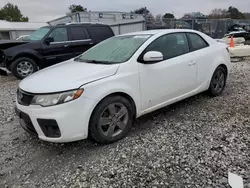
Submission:
M 185 33 L 172 33 L 157 38 L 139 59 L 149 51 L 161 52 L 163 61 L 138 63 L 142 110 L 158 109 L 196 89 L 197 65 L 194 56 L 189 53 Z

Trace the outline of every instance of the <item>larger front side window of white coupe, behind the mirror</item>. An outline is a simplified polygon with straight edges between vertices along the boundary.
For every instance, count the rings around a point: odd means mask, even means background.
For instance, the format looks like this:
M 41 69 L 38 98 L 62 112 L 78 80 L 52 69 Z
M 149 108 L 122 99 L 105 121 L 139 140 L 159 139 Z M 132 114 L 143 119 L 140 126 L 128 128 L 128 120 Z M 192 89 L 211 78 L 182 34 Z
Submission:
M 174 33 L 161 36 L 153 41 L 143 54 L 149 51 L 161 52 L 164 60 L 186 54 L 189 52 L 186 35 L 184 33 Z

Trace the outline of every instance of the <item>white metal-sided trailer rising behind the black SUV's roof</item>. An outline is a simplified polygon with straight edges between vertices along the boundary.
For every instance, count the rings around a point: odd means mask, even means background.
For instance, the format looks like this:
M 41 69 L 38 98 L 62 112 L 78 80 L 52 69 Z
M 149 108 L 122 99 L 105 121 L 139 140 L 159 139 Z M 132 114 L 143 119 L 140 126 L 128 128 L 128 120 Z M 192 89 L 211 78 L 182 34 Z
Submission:
M 143 31 L 146 28 L 145 18 L 141 14 L 125 12 L 77 12 L 47 22 L 57 25 L 72 22 L 94 22 L 109 25 L 115 35 Z

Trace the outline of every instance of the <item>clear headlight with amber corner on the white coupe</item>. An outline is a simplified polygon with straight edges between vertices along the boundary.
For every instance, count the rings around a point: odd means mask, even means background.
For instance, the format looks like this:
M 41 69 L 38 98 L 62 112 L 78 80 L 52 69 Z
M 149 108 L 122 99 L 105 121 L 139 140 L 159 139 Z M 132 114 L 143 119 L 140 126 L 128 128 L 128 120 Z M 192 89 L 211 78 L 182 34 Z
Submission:
M 83 93 L 83 89 L 66 91 L 49 95 L 35 95 L 31 105 L 54 106 L 78 99 Z

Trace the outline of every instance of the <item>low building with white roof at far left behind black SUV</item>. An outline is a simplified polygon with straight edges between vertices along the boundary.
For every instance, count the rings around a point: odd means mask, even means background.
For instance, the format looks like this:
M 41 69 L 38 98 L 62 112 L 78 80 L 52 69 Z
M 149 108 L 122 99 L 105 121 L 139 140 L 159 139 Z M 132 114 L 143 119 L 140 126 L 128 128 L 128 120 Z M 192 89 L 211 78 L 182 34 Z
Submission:
M 21 35 L 29 35 L 38 28 L 46 25 L 48 24 L 0 20 L 0 39 L 16 39 Z

